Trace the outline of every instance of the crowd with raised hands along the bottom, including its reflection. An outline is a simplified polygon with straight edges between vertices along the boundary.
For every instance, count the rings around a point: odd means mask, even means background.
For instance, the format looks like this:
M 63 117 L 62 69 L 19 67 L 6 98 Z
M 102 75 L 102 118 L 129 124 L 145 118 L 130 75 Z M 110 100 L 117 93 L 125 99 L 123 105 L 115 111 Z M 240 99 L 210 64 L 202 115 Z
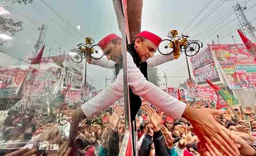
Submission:
M 192 105 L 192 103 L 188 104 Z M 214 105 L 211 100 L 201 99 L 196 101 L 194 107 L 214 108 Z M 11 147 L 17 146 L 16 144 L 6 144 L 9 150 L 1 150 L 0 154 L 6 156 L 60 154 L 65 142 L 70 141 L 68 140 L 70 120 L 67 118 L 70 112 L 70 109 L 63 109 L 63 114 L 58 114 L 57 123 L 39 122 L 44 117 L 34 115 L 33 110 L 23 112 L 25 115 L 15 121 L 6 118 L 4 127 L 13 121 L 12 128 L 6 129 L 1 140 L 29 141 L 19 150 L 11 150 Z M 240 110 L 234 112 L 228 108 L 224 115 L 216 115 L 216 119 L 223 125 L 223 129 L 232 131 L 233 137 L 238 139 L 241 146 L 240 154 L 253 156 L 256 154 L 256 146 L 254 146 L 256 108 L 241 106 Z M 1 115 L 2 113 L 4 112 L 1 112 Z M 245 121 L 245 116 L 249 121 Z M 202 153 L 204 150 L 189 121 L 184 118 L 176 120 L 154 105 L 142 105 L 134 124 L 137 129 L 135 138 L 137 138 L 139 156 L 200 156 L 199 152 Z M 102 111 L 101 115 L 95 115 L 92 119 L 84 117 L 80 121 L 75 139 L 76 148 L 72 150 L 77 156 L 117 156 L 122 148 L 124 134 L 124 107 L 114 105 Z

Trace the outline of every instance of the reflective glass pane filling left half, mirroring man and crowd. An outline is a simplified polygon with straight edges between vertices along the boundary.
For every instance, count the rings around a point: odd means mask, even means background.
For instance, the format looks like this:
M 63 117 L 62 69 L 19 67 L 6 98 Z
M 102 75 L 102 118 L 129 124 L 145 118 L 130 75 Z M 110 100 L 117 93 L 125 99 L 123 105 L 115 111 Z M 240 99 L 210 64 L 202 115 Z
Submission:
M 0 155 L 118 155 L 126 45 L 114 7 L 84 0 L 2 3 Z

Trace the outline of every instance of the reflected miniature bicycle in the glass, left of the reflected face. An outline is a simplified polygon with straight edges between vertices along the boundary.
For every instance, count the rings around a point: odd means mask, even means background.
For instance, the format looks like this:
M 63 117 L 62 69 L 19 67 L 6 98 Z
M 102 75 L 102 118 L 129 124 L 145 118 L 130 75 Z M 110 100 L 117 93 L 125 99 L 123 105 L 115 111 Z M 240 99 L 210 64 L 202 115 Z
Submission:
M 99 45 L 92 45 L 94 40 L 90 37 L 85 38 L 85 43 L 78 44 L 78 48 L 71 49 L 68 52 L 71 60 L 76 63 L 81 63 L 83 58 L 86 58 L 86 52 L 89 52 L 91 57 L 98 60 L 103 57 L 103 52 Z

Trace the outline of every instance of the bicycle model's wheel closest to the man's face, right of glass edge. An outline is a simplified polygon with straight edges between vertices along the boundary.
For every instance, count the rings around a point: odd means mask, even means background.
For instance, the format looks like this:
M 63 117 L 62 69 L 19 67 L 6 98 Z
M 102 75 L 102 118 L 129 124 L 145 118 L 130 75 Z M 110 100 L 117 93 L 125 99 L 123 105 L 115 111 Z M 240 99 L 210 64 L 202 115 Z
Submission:
M 172 44 L 171 47 L 170 47 L 170 44 Z M 158 46 L 158 51 L 162 55 L 170 55 L 174 49 L 175 49 L 175 44 L 170 39 L 162 40 Z

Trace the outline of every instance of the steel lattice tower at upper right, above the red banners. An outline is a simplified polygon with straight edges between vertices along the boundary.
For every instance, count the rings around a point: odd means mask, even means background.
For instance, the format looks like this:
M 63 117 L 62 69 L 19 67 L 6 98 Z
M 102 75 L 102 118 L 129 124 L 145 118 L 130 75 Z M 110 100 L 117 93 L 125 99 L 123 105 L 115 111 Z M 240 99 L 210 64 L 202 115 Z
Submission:
M 254 34 L 255 28 L 252 26 L 252 23 L 247 20 L 244 14 L 244 10 L 246 10 L 247 7 L 241 7 L 241 5 L 237 3 L 235 6 L 233 6 L 233 8 L 240 23 L 239 27 L 244 35 L 246 35 L 246 37 L 248 37 L 251 41 L 256 42 L 256 36 Z

